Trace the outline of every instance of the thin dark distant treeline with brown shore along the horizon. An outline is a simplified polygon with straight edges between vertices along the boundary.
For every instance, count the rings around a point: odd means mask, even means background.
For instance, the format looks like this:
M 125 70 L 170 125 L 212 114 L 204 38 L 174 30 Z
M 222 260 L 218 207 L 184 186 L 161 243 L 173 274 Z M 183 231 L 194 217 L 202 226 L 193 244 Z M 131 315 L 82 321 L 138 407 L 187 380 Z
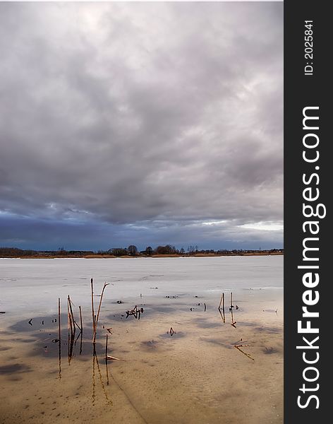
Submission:
M 147 246 L 145 250 L 139 251 L 135 245 L 128 247 L 112 247 L 108 250 L 66 250 L 59 247 L 57 250 L 23 250 L 17 247 L 0 247 L 0 257 L 90 257 L 91 255 L 101 257 L 151 257 L 155 255 L 166 256 L 195 256 L 195 255 L 250 255 L 250 254 L 283 254 L 284 249 L 198 249 L 198 246 L 188 246 L 187 249 L 183 247 L 176 249 L 171 245 L 157 246 L 153 249 Z

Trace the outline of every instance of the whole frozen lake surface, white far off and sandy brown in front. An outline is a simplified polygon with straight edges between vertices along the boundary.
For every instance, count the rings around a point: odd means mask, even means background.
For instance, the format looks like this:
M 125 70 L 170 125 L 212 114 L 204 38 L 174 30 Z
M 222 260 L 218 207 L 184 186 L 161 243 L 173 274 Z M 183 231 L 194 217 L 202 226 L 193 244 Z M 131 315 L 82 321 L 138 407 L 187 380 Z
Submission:
M 0 269 L 0 423 L 283 423 L 282 257 L 0 259 Z M 90 278 L 95 310 L 109 283 L 95 352 Z M 78 322 L 83 311 L 72 343 L 68 294 Z M 135 305 L 140 319 L 126 318 Z M 120 360 L 104 359 L 107 335 Z

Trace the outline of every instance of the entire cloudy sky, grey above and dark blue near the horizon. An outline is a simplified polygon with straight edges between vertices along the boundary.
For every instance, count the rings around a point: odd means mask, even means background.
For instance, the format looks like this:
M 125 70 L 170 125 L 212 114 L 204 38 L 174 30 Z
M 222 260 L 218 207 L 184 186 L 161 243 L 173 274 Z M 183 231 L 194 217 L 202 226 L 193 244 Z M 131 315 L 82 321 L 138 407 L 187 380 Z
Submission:
M 282 247 L 282 3 L 1 2 L 0 55 L 0 246 Z

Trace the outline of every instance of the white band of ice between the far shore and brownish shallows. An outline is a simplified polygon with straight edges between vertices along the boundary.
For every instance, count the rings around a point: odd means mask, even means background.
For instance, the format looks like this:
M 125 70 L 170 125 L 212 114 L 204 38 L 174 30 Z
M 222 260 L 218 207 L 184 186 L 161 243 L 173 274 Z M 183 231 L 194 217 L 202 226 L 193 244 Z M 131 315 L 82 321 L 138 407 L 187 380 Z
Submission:
M 198 295 L 283 288 L 283 257 L 179 257 L 119 259 L 0 259 L 0 310 L 49 313 L 68 294 L 89 305 L 90 278 L 96 294 L 110 283 L 105 300 Z M 8 315 L 6 315 L 8 317 Z

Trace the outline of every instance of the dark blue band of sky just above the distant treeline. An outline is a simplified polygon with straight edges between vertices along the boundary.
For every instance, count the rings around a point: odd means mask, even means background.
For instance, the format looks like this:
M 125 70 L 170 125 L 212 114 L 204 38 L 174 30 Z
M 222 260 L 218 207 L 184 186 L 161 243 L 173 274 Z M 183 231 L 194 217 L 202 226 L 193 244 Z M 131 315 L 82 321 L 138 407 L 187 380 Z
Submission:
M 1 244 L 23 249 L 107 250 L 135 244 L 139 249 L 156 247 L 172 241 L 179 249 L 198 245 L 200 249 L 270 249 L 281 247 L 282 228 L 253 227 L 227 221 L 177 223 L 174 221 L 141 222 L 137 224 L 104 225 L 94 221 L 40 220 L 18 216 L 2 216 Z M 273 233 L 273 234 L 272 234 Z

